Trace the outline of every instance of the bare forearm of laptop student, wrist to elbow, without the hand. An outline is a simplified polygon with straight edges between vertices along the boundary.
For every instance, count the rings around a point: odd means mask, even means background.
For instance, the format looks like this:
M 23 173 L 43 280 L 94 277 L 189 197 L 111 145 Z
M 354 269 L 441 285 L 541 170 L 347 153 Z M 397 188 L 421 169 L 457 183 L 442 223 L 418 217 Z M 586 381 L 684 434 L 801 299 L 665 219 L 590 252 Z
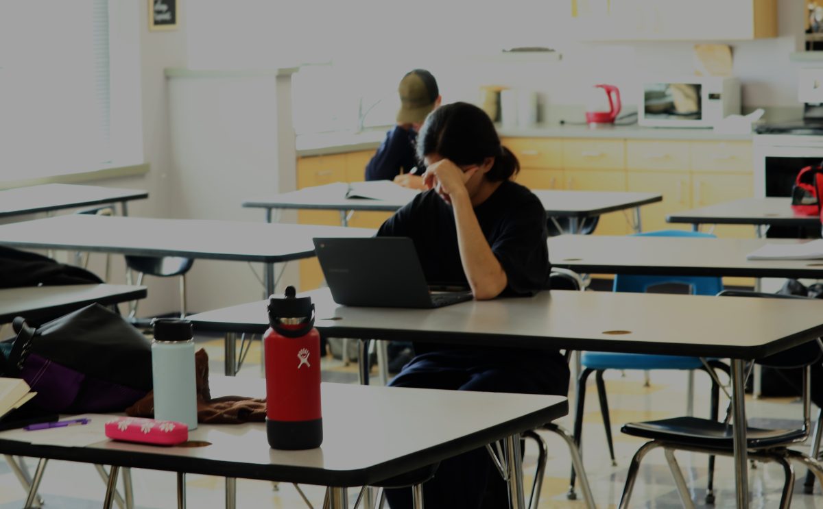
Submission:
M 468 195 L 452 196 L 452 206 L 458 230 L 460 261 L 472 294 L 477 300 L 495 298 L 508 281 L 503 266 L 483 236 Z

